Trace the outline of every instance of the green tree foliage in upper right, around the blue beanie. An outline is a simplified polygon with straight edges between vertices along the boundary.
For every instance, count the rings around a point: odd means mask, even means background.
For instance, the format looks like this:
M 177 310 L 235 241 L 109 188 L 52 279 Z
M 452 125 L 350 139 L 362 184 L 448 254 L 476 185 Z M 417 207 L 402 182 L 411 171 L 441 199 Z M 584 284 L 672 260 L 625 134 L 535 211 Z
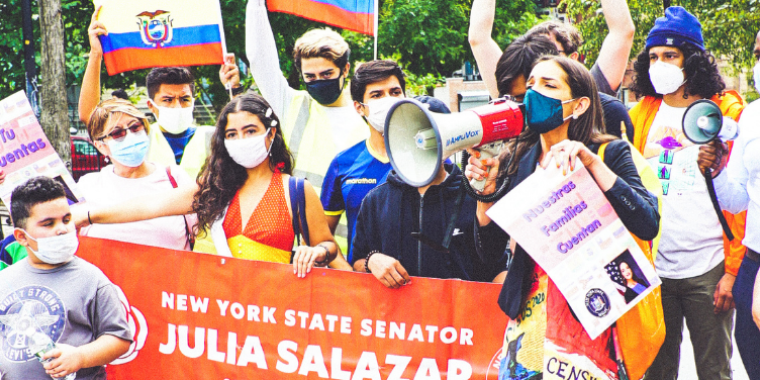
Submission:
M 668 0 L 665 0 L 668 1 Z M 680 5 L 693 13 L 702 23 L 705 47 L 716 57 L 724 57 L 739 72 L 755 63 L 752 47 L 760 29 L 760 0 L 670 0 L 670 5 Z M 598 0 L 565 0 L 567 13 L 577 23 L 585 39 L 581 51 L 586 54 L 590 67 L 596 60 L 607 24 Z M 665 14 L 663 1 L 628 0 L 631 17 L 636 24 L 636 37 L 631 57 L 635 57 L 645 45 L 647 34 L 654 21 Z

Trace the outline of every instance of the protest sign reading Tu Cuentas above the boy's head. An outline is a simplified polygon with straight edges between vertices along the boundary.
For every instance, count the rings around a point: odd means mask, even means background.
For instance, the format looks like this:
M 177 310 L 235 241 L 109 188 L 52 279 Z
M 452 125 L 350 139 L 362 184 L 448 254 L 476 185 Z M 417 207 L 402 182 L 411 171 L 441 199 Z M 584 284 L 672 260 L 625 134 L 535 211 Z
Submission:
M 66 165 L 50 145 L 23 91 L 0 101 L 0 169 L 6 173 L 0 198 L 10 205 L 11 192 L 32 177 L 60 182 L 69 204 L 84 200 Z

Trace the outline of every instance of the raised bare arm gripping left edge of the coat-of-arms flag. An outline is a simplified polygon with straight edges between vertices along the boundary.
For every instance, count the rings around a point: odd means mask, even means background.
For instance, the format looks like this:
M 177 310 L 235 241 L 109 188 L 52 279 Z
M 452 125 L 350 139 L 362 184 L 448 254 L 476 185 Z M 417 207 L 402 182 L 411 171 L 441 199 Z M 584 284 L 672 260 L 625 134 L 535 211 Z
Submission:
M 92 110 L 100 102 L 100 65 L 103 63 L 103 46 L 98 36 L 108 34 L 105 25 L 98 21 L 98 13 L 102 6 L 95 9 L 87 28 L 90 38 L 90 58 L 87 60 L 87 68 L 84 70 L 82 90 L 79 93 L 79 120 L 87 124 Z

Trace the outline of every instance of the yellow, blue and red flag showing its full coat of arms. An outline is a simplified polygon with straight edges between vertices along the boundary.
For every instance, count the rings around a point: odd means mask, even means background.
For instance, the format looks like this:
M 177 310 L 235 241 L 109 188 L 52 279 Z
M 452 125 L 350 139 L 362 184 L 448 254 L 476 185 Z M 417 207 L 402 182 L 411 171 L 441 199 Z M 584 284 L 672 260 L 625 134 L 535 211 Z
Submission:
M 220 65 L 219 0 L 105 0 L 97 15 L 108 75 L 151 67 Z

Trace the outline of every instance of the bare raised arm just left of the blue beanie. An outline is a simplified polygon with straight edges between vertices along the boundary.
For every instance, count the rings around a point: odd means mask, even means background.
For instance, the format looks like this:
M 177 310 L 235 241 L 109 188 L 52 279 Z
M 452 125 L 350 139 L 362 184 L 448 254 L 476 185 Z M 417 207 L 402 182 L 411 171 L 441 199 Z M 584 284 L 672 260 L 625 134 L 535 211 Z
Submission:
M 596 63 L 610 88 L 617 91 L 628 66 L 636 27 L 627 0 L 602 0 L 602 12 L 610 32 L 604 38 Z

